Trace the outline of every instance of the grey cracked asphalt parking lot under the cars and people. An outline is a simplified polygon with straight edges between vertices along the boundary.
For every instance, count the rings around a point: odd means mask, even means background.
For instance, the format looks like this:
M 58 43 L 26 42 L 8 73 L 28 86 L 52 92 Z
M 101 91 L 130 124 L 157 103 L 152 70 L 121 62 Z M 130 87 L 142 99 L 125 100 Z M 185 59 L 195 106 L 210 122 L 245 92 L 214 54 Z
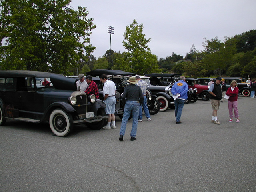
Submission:
M 228 122 L 220 104 L 220 125 L 210 122 L 210 101 L 186 104 L 182 124 L 174 110 L 132 120 L 120 142 L 116 129 L 75 126 L 65 138 L 47 123 L 7 121 L 0 127 L 1 192 L 255 192 L 256 98 L 238 98 L 240 123 Z

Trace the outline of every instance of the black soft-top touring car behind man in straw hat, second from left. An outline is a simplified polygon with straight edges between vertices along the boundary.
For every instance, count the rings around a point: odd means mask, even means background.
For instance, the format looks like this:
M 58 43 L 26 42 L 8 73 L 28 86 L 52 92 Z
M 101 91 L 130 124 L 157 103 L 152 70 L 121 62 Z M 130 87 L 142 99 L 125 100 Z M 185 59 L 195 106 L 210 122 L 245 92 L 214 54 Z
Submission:
M 91 75 L 94 77 L 99 77 L 102 74 L 108 76 L 110 80 L 112 80 L 116 84 L 116 92 L 120 97 L 119 107 L 116 106 L 115 114 L 118 115 L 121 119 L 124 113 L 124 103 L 122 102 L 122 93 L 124 92 L 124 88 L 129 84 L 127 79 L 130 76 L 136 76 L 135 73 L 125 72 L 122 70 L 107 70 L 107 69 L 96 69 L 90 72 L 86 72 L 87 75 Z M 100 98 L 103 100 L 103 92 L 99 88 Z M 117 97 L 116 97 L 117 98 Z M 155 95 L 148 96 L 148 110 L 151 115 L 157 114 L 160 109 L 160 104 L 156 100 Z

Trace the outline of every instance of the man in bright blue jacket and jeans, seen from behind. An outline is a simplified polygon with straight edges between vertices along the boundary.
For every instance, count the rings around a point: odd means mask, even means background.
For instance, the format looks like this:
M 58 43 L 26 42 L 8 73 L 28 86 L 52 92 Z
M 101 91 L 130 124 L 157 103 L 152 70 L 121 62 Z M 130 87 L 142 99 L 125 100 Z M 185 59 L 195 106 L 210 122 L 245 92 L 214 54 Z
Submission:
M 180 124 L 182 109 L 186 99 L 188 98 L 188 84 L 185 82 L 184 76 L 180 76 L 180 80 L 172 86 L 171 91 L 175 99 L 174 104 L 175 104 L 176 124 Z

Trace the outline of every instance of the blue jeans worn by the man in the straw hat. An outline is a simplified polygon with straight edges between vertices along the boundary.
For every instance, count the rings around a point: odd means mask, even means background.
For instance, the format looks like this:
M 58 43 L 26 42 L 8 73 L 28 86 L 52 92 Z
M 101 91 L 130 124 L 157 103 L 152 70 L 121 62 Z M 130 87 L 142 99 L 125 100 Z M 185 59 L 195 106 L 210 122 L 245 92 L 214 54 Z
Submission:
M 132 114 L 131 137 L 136 137 L 139 110 L 140 110 L 140 103 L 138 101 L 126 101 L 126 104 L 124 106 L 124 116 L 122 119 L 119 135 L 124 135 L 125 130 L 126 130 L 126 124 L 128 122 L 128 118 Z

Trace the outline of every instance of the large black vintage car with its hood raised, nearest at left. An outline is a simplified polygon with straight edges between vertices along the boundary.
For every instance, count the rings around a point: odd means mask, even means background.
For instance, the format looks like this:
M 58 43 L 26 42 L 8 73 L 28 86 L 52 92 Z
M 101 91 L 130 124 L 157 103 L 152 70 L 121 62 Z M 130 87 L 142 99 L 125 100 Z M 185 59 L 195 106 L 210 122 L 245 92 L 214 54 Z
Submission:
M 37 78 L 50 78 L 53 86 L 39 86 Z M 106 104 L 76 90 L 76 79 L 38 71 L 0 71 L 0 126 L 7 119 L 49 122 L 56 136 L 67 136 L 73 124 L 101 129 L 108 116 Z

